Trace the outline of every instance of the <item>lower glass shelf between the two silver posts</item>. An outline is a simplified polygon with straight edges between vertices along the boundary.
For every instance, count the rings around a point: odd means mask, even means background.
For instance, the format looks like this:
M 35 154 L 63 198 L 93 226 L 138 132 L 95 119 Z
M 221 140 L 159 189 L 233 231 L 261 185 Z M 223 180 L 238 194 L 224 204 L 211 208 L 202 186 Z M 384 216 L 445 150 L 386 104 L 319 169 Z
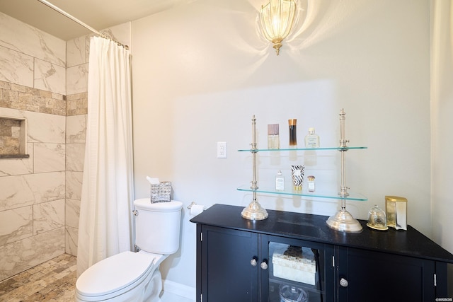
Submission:
M 258 193 L 268 193 L 268 194 L 282 194 L 282 195 L 293 195 L 293 196 L 304 196 L 304 197 L 319 197 L 319 198 L 330 198 L 330 199 L 345 199 L 345 200 L 355 200 L 359 202 L 365 202 L 368 200 L 367 197 L 353 193 L 353 192 L 348 192 L 349 195 L 346 197 L 341 197 L 338 192 L 324 192 L 324 191 L 319 191 L 319 192 L 308 192 L 305 190 L 302 191 L 295 191 L 295 190 L 283 190 L 283 191 L 277 191 L 273 188 L 270 187 L 259 187 L 256 190 L 251 189 L 249 185 L 241 185 L 241 187 L 238 187 L 237 190 L 239 191 L 246 191 L 246 192 L 258 192 Z

